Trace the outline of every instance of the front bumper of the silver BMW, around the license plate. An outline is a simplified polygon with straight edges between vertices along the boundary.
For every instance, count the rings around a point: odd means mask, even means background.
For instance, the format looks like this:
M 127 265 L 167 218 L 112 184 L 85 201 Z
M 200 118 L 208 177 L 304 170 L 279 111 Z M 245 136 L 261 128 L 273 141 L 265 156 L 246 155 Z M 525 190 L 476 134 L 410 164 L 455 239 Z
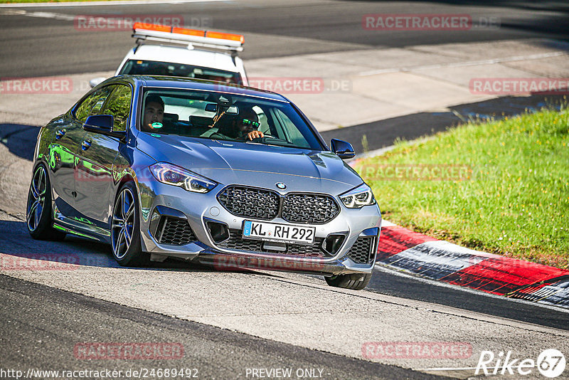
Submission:
M 206 194 L 193 194 L 157 181 L 139 184 L 142 248 L 150 253 L 151 260 L 174 257 L 220 270 L 247 268 L 318 275 L 373 270 L 381 231 L 377 204 L 348 209 L 334 196 L 339 213 L 326 223 L 291 223 L 279 215 L 270 223 L 314 226 L 315 242 L 312 247 L 288 243 L 285 251 L 264 250 L 264 243 L 243 239 L 244 221 L 255 218 L 225 209 L 218 199 L 223 189 L 218 185 Z

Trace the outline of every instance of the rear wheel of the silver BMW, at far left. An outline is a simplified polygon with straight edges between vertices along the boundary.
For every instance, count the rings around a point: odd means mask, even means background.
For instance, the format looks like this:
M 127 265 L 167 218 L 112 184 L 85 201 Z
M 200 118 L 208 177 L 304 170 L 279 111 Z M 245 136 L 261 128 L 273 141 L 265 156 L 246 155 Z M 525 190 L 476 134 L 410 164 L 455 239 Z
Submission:
M 65 232 L 51 226 L 51 184 L 43 164 L 33 171 L 26 202 L 26 226 L 36 240 L 62 241 Z

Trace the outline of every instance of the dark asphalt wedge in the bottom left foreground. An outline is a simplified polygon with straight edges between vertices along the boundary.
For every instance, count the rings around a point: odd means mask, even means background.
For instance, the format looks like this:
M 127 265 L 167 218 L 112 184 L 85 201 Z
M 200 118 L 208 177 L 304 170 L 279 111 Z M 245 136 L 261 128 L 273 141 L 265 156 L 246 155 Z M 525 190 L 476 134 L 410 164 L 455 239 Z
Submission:
M 326 379 L 437 379 L 408 369 L 117 305 L 0 275 L 1 366 L 26 371 L 198 369 L 199 379 L 245 378 L 247 368 L 323 369 Z M 20 312 L 14 313 L 14 310 Z M 176 342 L 183 359 L 85 361 L 77 342 Z M 241 376 L 238 376 L 241 374 Z

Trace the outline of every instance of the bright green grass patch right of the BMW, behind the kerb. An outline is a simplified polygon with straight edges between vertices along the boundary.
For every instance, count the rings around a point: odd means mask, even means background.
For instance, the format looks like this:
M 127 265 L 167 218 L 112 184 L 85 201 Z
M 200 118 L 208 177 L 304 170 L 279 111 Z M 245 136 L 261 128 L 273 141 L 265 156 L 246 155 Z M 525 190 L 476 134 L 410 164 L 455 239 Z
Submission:
M 425 168 L 438 174 L 432 169 L 452 165 L 467 168 L 454 176 L 462 180 L 425 178 Z M 423 178 L 385 180 L 394 175 L 387 168 L 397 166 L 400 173 L 415 167 Z M 469 248 L 569 268 L 566 106 L 398 142 L 355 169 L 389 221 Z

